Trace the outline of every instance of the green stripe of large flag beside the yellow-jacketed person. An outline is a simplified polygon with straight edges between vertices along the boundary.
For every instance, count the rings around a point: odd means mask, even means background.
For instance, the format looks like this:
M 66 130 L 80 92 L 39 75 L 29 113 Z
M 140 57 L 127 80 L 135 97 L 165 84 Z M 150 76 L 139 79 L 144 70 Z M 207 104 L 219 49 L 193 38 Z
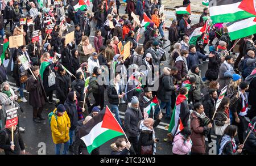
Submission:
M 101 135 L 98 135 L 98 137 L 96 137 L 93 140 L 93 143 L 90 146 L 87 146 L 87 150 L 88 150 L 89 154 L 95 148 L 100 147 L 105 142 L 108 142 L 110 139 L 113 139 L 113 138 L 118 137 L 120 135 L 124 135 L 124 134 L 120 133 L 118 131 L 114 131 L 114 130 L 107 130 L 104 133 L 102 133 Z

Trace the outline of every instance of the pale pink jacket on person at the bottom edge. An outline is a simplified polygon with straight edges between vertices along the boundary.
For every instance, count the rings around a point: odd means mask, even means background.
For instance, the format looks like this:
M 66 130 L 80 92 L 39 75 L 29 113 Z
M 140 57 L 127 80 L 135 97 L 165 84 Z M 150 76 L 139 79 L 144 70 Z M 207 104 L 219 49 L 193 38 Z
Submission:
M 176 155 L 187 155 L 191 152 L 192 141 L 186 141 L 185 137 L 179 133 L 174 137 L 174 144 L 172 146 L 172 153 Z

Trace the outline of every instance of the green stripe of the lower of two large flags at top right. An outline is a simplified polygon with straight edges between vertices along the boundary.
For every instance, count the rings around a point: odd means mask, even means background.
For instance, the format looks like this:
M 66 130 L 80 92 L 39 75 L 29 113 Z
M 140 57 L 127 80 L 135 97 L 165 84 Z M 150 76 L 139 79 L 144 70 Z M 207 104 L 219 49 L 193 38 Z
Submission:
M 238 31 L 230 32 L 230 40 L 236 40 L 236 39 L 241 39 L 246 36 L 250 36 L 256 33 L 256 25 L 253 25 L 248 28 L 243 28 Z

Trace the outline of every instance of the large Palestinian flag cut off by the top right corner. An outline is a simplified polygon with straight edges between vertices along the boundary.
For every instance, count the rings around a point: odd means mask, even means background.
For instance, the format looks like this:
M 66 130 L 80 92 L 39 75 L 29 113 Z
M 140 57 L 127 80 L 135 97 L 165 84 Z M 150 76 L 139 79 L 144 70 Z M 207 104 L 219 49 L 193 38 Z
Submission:
M 256 16 L 255 0 L 211 0 L 209 10 L 213 23 L 236 22 Z

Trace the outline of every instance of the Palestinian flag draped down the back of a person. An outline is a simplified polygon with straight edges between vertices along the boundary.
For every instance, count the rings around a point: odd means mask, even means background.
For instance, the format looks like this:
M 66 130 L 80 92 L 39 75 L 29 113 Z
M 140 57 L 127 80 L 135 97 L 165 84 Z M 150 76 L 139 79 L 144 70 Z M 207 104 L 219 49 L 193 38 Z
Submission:
M 177 133 L 177 131 L 179 131 L 180 129 L 181 130 L 183 129 L 183 125 L 180 120 L 180 111 L 181 111 L 180 109 L 181 109 L 181 103 L 186 99 L 187 97 L 184 95 L 178 95 L 176 99 L 176 105 L 172 113 L 172 118 L 170 121 L 169 130 L 168 130 L 174 136 Z

